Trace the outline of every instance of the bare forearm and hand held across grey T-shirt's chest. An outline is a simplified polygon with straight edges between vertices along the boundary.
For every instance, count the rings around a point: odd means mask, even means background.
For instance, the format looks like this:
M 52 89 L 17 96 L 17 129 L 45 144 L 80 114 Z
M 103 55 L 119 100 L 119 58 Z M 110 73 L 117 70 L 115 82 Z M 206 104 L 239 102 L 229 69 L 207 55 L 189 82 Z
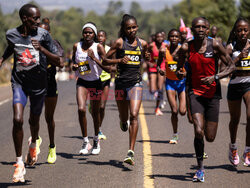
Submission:
M 31 39 L 31 43 L 36 50 L 42 52 L 55 66 L 60 66 L 61 59 L 58 55 L 51 53 L 46 48 L 44 48 L 38 40 Z

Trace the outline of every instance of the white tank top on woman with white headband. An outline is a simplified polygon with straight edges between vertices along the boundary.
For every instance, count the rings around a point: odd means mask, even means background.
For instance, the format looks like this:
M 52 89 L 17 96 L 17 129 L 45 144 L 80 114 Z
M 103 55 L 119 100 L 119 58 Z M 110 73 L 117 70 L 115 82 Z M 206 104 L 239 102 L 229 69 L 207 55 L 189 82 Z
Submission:
M 94 42 L 90 49 L 93 50 L 95 57 L 101 60 L 97 52 L 97 45 L 98 43 Z M 88 56 L 87 52 L 82 51 L 82 42 L 77 43 L 75 61 L 79 66 L 78 70 L 76 71 L 77 77 L 87 81 L 94 81 L 99 79 L 102 73 L 102 69 L 95 61 L 93 61 Z

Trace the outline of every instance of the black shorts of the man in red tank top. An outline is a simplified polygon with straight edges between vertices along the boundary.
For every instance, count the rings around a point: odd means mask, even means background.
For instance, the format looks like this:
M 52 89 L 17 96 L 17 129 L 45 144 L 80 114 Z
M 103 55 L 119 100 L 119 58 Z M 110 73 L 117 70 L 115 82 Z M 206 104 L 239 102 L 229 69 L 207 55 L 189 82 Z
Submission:
M 189 97 L 191 114 L 200 113 L 206 121 L 219 121 L 220 98 L 205 98 L 193 93 Z

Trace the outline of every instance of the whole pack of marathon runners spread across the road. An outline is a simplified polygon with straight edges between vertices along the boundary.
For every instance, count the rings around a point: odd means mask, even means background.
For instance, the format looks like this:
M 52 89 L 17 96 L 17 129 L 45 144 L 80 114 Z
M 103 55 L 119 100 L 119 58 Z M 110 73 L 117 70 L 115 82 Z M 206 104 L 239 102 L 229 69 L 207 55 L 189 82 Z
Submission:
M 6 33 L 8 46 L 0 59 L 0 66 L 14 54 L 11 84 L 13 90 L 13 141 L 16 151 L 13 182 L 24 182 L 26 173 L 22 157 L 23 111 L 29 97 L 30 131 L 29 151 L 26 165 L 34 165 L 40 153 L 42 142 L 39 136 L 39 119 L 45 103 L 45 117 L 49 132 L 48 163 L 56 161 L 54 141 L 54 111 L 57 103 L 55 81 L 56 66 L 63 67 L 63 48 L 49 34 L 50 23 L 40 23 L 39 8 L 26 4 L 19 10 L 22 25 Z M 138 132 L 138 114 L 142 102 L 142 61 L 148 62 L 150 92 L 156 99 L 156 115 L 163 96 L 163 83 L 171 107 L 173 138 L 178 142 L 178 113 L 188 113 L 194 125 L 194 148 L 198 169 L 193 181 L 204 182 L 204 136 L 213 142 L 216 136 L 221 88 L 219 80 L 230 75 L 228 106 L 230 111 L 229 159 L 239 164 L 236 134 L 241 114 L 241 101 L 246 105 L 247 127 L 244 165 L 250 166 L 250 40 L 249 22 L 244 18 L 236 20 L 230 33 L 227 47 L 220 40 L 208 37 L 209 21 L 197 17 L 192 21 L 193 38 L 185 39 L 186 29 L 171 29 L 168 41 L 164 33 L 157 32 L 148 44 L 137 36 L 136 18 L 125 14 L 122 17 L 119 38 L 109 48 L 105 31 L 98 31 L 92 22 L 82 28 L 82 39 L 73 46 L 73 70 L 76 72 L 76 100 L 78 119 L 83 136 L 80 154 L 100 153 L 100 139 L 106 136 L 100 130 L 107 100 L 110 73 L 116 72 L 115 99 L 118 106 L 120 128 L 129 130 L 129 147 L 124 162 L 135 164 L 135 142 Z M 230 57 L 231 56 L 231 57 Z M 224 64 L 220 69 L 218 60 Z M 89 98 L 88 98 L 89 96 Z M 179 107 L 177 102 L 179 99 Z M 94 138 L 90 144 L 87 135 L 86 103 L 93 118 Z

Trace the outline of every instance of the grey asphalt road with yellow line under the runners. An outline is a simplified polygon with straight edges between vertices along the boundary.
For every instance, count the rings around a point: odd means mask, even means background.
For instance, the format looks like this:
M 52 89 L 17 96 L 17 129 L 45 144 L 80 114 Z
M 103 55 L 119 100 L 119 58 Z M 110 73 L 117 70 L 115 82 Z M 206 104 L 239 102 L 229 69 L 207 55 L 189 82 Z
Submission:
M 75 99 L 75 81 L 58 83 L 59 99 L 55 113 L 56 122 L 56 164 L 46 162 L 48 153 L 48 133 L 44 114 L 40 121 L 40 136 L 43 139 L 41 153 L 35 167 L 27 168 L 24 184 L 13 184 L 12 174 L 15 162 L 12 141 L 11 100 L 0 103 L 0 187 L 249 187 L 250 168 L 244 167 L 242 160 L 237 168 L 228 161 L 229 112 L 226 103 L 226 87 L 220 107 L 220 121 L 214 143 L 205 142 L 208 159 L 205 164 L 205 183 L 193 183 L 196 169 L 193 148 L 193 127 L 186 116 L 179 117 L 179 143 L 169 144 L 172 136 L 170 108 L 167 104 L 163 116 L 154 115 L 155 102 L 144 100 L 140 111 L 140 129 L 135 149 L 135 166 L 123 164 L 128 150 L 128 132 L 119 127 L 116 103 L 109 100 L 102 130 L 107 140 L 101 142 L 98 156 L 78 154 L 82 137 L 78 124 Z M 145 91 L 147 88 L 144 88 Z M 0 100 L 11 97 L 10 87 L 0 88 Z M 111 88 L 113 91 L 113 88 Z M 112 96 L 110 97 L 112 99 Z M 24 113 L 23 156 L 28 150 L 30 136 L 28 126 L 29 104 Z M 87 113 L 88 133 L 93 136 L 93 122 Z M 246 116 L 242 105 L 237 143 L 242 156 L 245 145 Z

